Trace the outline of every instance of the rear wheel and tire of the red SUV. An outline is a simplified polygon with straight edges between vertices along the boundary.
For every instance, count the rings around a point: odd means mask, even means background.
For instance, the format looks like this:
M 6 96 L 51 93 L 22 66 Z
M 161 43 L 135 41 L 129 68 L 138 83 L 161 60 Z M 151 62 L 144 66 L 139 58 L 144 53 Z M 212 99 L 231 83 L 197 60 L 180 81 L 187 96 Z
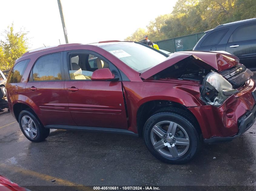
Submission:
M 41 142 L 48 137 L 50 129 L 44 128 L 32 110 L 23 110 L 18 119 L 21 131 L 28 140 Z

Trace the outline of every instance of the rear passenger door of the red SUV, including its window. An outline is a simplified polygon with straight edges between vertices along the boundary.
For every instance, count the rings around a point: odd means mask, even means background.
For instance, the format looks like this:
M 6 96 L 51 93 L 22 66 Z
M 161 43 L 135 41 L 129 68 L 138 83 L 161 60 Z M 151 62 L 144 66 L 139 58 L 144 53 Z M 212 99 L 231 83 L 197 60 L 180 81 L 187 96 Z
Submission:
M 40 57 L 26 84 L 26 96 L 38 108 L 36 114 L 43 125 L 74 125 L 68 111 L 62 65 L 62 53 Z

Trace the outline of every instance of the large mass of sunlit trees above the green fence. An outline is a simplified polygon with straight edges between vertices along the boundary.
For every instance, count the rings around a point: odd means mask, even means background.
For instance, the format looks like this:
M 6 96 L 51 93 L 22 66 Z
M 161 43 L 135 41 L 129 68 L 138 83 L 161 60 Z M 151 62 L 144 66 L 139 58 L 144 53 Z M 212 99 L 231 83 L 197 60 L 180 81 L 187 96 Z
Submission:
M 199 33 L 219 24 L 256 18 L 255 10 L 255 0 L 178 0 L 171 14 L 155 18 L 147 29 L 140 28 L 128 38 L 139 41 L 147 33 L 151 41 L 158 41 Z

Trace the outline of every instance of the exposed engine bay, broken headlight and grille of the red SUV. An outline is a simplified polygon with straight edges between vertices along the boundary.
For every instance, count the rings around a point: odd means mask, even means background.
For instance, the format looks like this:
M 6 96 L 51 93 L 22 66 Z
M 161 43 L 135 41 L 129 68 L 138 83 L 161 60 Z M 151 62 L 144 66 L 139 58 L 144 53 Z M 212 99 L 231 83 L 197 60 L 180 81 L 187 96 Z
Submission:
M 188 57 L 158 72 L 152 78 L 199 81 L 202 84 L 200 99 L 207 105 L 219 107 L 228 97 L 238 93 L 237 88 L 243 86 L 252 76 L 253 72 L 240 63 L 218 72 L 202 60 Z

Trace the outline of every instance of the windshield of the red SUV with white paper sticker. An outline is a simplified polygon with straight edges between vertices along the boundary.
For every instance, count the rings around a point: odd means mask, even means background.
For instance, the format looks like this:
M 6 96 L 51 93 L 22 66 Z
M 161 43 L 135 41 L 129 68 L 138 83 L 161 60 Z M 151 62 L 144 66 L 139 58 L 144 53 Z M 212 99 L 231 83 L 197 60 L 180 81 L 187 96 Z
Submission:
M 138 72 L 143 72 L 163 62 L 167 57 L 157 51 L 136 43 L 119 43 L 101 46 Z

